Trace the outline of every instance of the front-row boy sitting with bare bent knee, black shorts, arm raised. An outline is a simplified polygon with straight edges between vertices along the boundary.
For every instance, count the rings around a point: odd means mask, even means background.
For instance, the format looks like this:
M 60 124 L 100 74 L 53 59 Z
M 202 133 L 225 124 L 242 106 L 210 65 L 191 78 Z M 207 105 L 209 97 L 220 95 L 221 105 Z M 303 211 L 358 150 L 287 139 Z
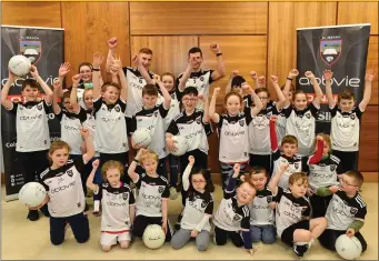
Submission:
M 279 172 L 272 177 L 269 189 L 276 197 L 276 225 L 281 241 L 293 247 L 295 253 L 302 258 L 313 241 L 325 231 L 328 221 L 325 218 L 310 219 L 311 207 L 305 197 L 308 178 L 305 172 L 295 172 L 288 180 L 288 189 L 278 187 L 281 174 L 288 163 L 280 165 Z

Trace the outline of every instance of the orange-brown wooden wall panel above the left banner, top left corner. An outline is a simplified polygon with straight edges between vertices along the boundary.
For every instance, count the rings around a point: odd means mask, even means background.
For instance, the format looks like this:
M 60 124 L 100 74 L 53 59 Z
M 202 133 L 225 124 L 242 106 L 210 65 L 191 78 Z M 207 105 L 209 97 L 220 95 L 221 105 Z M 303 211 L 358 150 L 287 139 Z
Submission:
M 2 2 L 1 24 L 60 28 L 60 2 Z

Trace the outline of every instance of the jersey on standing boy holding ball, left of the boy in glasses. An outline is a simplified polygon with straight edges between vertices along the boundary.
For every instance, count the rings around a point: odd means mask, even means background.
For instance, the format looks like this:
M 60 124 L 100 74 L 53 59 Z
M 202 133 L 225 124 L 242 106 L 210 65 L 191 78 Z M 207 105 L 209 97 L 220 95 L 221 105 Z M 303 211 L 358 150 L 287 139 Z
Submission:
M 152 109 L 140 109 L 132 117 L 130 133 L 133 133 L 138 129 L 146 128 L 150 131 L 151 143 L 150 150 L 156 152 L 159 159 L 163 159 L 167 155 L 166 139 L 164 139 L 164 118 L 167 117 L 168 109 L 163 103 L 156 106 Z

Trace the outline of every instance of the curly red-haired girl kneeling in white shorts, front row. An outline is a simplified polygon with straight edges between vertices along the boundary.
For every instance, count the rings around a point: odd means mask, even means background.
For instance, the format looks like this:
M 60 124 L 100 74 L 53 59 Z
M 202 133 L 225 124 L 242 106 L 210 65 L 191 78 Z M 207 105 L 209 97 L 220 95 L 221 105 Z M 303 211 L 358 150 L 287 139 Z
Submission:
M 93 161 L 93 169 L 88 177 L 87 187 L 101 200 L 101 249 L 108 252 L 113 244 L 129 248 L 131 224 L 134 219 L 134 195 L 130 187 L 120 181 L 123 165 L 119 161 L 107 161 L 101 170 L 104 177 L 101 184 L 93 183 L 99 168 L 99 160 Z

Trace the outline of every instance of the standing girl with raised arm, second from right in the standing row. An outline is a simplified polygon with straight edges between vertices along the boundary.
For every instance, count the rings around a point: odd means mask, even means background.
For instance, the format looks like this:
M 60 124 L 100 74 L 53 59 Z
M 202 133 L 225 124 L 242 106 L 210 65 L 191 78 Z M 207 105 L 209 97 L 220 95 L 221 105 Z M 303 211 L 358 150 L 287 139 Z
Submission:
M 311 153 L 312 142 L 316 131 L 316 118 L 320 110 L 322 91 L 311 71 L 306 71 L 305 76 L 310 79 L 315 97 L 311 103 L 308 103 L 307 94 L 302 90 L 293 93 L 293 104 L 287 100 L 283 113 L 287 118 L 287 134 L 295 135 L 299 141 L 299 154 L 308 157 Z

